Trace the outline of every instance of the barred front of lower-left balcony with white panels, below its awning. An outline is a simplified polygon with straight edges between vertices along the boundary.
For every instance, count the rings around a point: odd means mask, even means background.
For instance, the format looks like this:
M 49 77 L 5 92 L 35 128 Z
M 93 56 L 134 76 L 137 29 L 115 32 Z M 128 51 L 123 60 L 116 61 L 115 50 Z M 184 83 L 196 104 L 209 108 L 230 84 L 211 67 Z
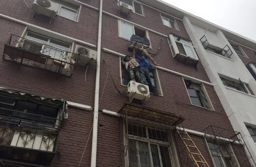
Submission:
M 0 108 L 0 160 L 28 166 L 50 165 L 59 130 L 60 121 L 56 118 Z

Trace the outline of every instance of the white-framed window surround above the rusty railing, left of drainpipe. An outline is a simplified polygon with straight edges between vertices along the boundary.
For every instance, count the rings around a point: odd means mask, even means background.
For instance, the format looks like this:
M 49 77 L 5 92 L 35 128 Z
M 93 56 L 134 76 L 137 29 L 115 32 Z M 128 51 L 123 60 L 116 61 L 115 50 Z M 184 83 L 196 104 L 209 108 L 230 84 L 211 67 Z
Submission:
M 29 32 L 29 31 L 26 31 L 26 33 L 24 34 L 24 36 L 23 36 L 23 39 L 24 39 L 24 40 L 32 41 L 32 42 L 34 42 L 34 43 L 39 43 L 39 44 L 42 45 L 42 49 L 43 49 L 44 47 L 50 47 L 50 45 L 49 45 L 49 44 L 50 44 L 50 39 L 53 39 L 53 38 L 48 37 L 48 41 L 47 41 L 46 44 L 45 44 L 45 43 L 40 43 L 40 42 L 34 41 L 34 40 L 32 40 L 32 39 L 27 39 L 27 38 L 26 38 L 26 35 L 28 34 L 28 32 Z M 36 32 L 33 32 L 33 31 L 30 31 L 30 32 L 35 33 L 35 34 L 38 34 L 38 35 L 41 35 L 41 36 L 44 36 L 44 37 L 47 37 L 46 35 L 42 35 L 42 34 L 40 34 L 40 33 L 36 33 Z M 54 39 L 54 40 L 59 41 L 58 39 Z M 60 41 L 60 42 L 62 42 L 62 41 Z M 63 42 L 63 43 L 65 43 L 65 42 Z M 67 44 L 69 44 L 69 43 L 67 43 Z M 49 46 L 47 46 L 47 45 L 49 45 Z M 55 50 L 58 50 L 58 51 L 63 51 L 63 52 L 64 52 L 64 55 L 66 55 L 66 52 L 69 52 L 70 49 L 71 49 L 71 44 L 69 44 L 69 50 L 68 50 L 68 51 L 65 51 L 65 50 L 63 50 L 63 49 L 60 49 L 60 48 L 54 47 L 54 46 L 51 46 L 51 48 L 52 48 L 52 49 L 55 49 Z M 41 49 L 41 51 L 40 51 L 41 53 L 42 53 L 42 49 Z M 43 53 L 42 53 L 42 54 L 43 54 Z M 51 56 L 50 56 L 50 57 L 51 57 Z M 54 57 L 52 57 L 52 58 L 54 58 Z M 57 60 L 54 60 L 54 61 L 57 61 Z M 69 62 L 69 59 L 67 59 L 67 58 L 63 59 L 62 57 L 60 57 L 60 61 L 67 61 L 67 62 Z

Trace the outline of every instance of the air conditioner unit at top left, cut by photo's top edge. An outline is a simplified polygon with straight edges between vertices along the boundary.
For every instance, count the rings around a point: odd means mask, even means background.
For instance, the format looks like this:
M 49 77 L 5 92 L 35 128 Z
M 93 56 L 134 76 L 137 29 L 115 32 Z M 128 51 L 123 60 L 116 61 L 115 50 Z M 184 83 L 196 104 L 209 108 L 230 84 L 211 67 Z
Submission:
M 55 18 L 58 12 L 58 7 L 58 4 L 55 4 L 50 0 L 34 0 L 32 10 L 38 14 Z

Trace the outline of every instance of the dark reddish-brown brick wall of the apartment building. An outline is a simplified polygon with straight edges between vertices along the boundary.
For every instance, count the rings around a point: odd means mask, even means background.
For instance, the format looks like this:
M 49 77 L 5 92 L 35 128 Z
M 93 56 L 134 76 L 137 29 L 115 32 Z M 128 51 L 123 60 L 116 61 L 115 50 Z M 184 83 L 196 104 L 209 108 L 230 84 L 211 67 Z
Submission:
M 99 8 L 99 0 L 80 1 L 95 8 Z M 26 0 L 26 2 L 28 3 L 28 6 L 32 6 L 33 0 Z M 115 0 L 103 0 L 103 10 L 119 16 L 117 2 Z M 119 17 L 164 35 L 173 33 L 189 39 L 189 35 L 187 34 L 182 21 L 176 20 L 177 26 L 179 27 L 179 31 L 177 31 L 162 24 L 161 16 L 158 11 L 145 5 L 143 5 L 143 10 L 145 17 L 137 14 L 131 14 L 129 18 L 123 16 Z M 44 16 L 36 15 L 32 18 L 33 12 L 26 7 L 26 4 L 24 4 L 23 1 L 19 0 L 14 0 L 12 3 L 2 2 L 2 5 L 0 6 L 0 14 L 97 45 L 99 12 L 83 5 L 81 7 L 79 22 L 74 22 L 58 16 L 52 20 L 51 24 L 49 24 L 49 20 Z M 6 43 L 8 37 L 11 34 L 22 35 L 25 27 L 26 25 L 0 18 L 0 55 L 3 55 L 4 43 Z M 163 41 L 161 50 L 157 55 L 153 56 L 155 61 L 159 63 L 161 67 L 210 82 L 204 67 L 200 62 L 198 63 L 198 70 L 196 70 L 193 66 L 185 65 L 182 62 L 176 61 L 173 59 L 166 37 L 151 31 L 149 31 L 149 37 L 153 47 L 151 52 L 155 52 L 157 50 L 160 46 L 161 39 Z M 77 44 L 79 43 L 75 43 L 75 46 Z M 118 19 L 107 14 L 103 14 L 101 44 L 101 47 L 105 47 L 125 55 L 131 55 L 131 53 L 127 51 L 129 41 L 118 37 Z M 246 53 L 249 52 L 247 50 L 244 51 Z M 250 57 L 252 56 L 250 55 Z M 106 60 L 107 63 L 109 63 L 110 69 L 103 60 Z M 75 67 L 72 77 L 67 77 L 58 75 L 51 71 L 44 71 L 42 69 L 26 65 L 21 65 L 20 68 L 19 66 L 20 64 L 18 63 L 0 59 L 0 86 L 15 88 L 17 90 L 40 94 L 42 96 L 62 98 L 67 101 L 89 106 L 94 105 L 96 78 L 95 65 L 91 65 L 89 67 L 86 74 L 86 81 L 85 67 Z M 113 86 L 110 74 L 108 74 L 109 70 L 111 70 L 113 82 L 115 82 L 117 88 L 121 90 L 121 92 L 123 90 L 127 90 L 126 86 L 121 86 L 119 56 L 101 51 L 99 91 L 99 98 L 101 101 L 99 104 L 99 110 L 102 111 L 103 109 L 106 109 L 118 112 L 125 102 L 129 102 L 129 98 L 127 96 L 120 95 L 117 92 Z M 181 76 L 174 75 L 161 69 L 157 69 L 157 74 L 159 76 L 159 83 L 161 84 L 163 95 L 158 96 L 150 94 L 151 97 L 149 100 L 143 102 L 144 106 L 165 110 L 167 112 L 183 116 L 185 121 L 181 126 L 190 130 L 201 132 L 212 124 L 215 126 L 225 127 L 229 131 L 233 132 L 233 128 L 213 86 L 204 84 L 214 107 L 214 110 L 208 110 L 191 104 Z M 92 125 L 93 111 L 69 107 L 69 118 L 64 121 L 60 130 L 57 148 L 58 153 L 52 160 L 52 167 L 78 166 L 82 155 L 83 159 L 81 160 L 81 166 L 90 166 L 93 133 L 91 132 L 90 135 L 90 131 Z M 175 138 L 177 138 L 176 135 Z M 227 134 L 224 134 L 223 137 L 228 136 L 225 135 Z M 119 118 L 100 112 L 97 141 L 98 167 L 125 166 L 123 136 L 123 124 L 120 123 Z M 192 138 L 196 145 L 198 145 L 198 148 L 209 165 L 213 166 L 204 138 L 198 136 L 193 136 Z M 86 143 L 87 147 L 85 149 Z M 181 143 L 177 142 L 176 147 L 180 144 Z M 83 154 L 84 149 L 85 152 Z M 177 151 L 179 150 L 177 149 Z M 244 152 L 239 149 L 234 149 L 234 152 L 237 157 L 244 155 Z M 180 165 L 184 167 L 188 166 L 185 163 L 180 163 Z

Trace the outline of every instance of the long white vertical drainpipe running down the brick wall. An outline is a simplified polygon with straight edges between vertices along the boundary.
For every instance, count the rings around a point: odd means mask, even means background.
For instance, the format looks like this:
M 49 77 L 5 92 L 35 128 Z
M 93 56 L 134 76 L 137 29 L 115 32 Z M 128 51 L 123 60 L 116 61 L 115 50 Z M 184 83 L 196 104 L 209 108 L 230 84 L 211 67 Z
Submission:
M 93 142 L 91 154 L 91 167 L 96 167 L 97 154 L 97 136 L 98 136 L 98 116 L 99 116 L 99 80 L 101 68 L 101 26 L 102 25 L 102 0 L 100 0 L 99 8 L 99 31 L 98 31 L 98 46 L 97 46 L 97 69 L 96 69 L 96 83 L 95 83 L 95 99 L 93 112 Z

